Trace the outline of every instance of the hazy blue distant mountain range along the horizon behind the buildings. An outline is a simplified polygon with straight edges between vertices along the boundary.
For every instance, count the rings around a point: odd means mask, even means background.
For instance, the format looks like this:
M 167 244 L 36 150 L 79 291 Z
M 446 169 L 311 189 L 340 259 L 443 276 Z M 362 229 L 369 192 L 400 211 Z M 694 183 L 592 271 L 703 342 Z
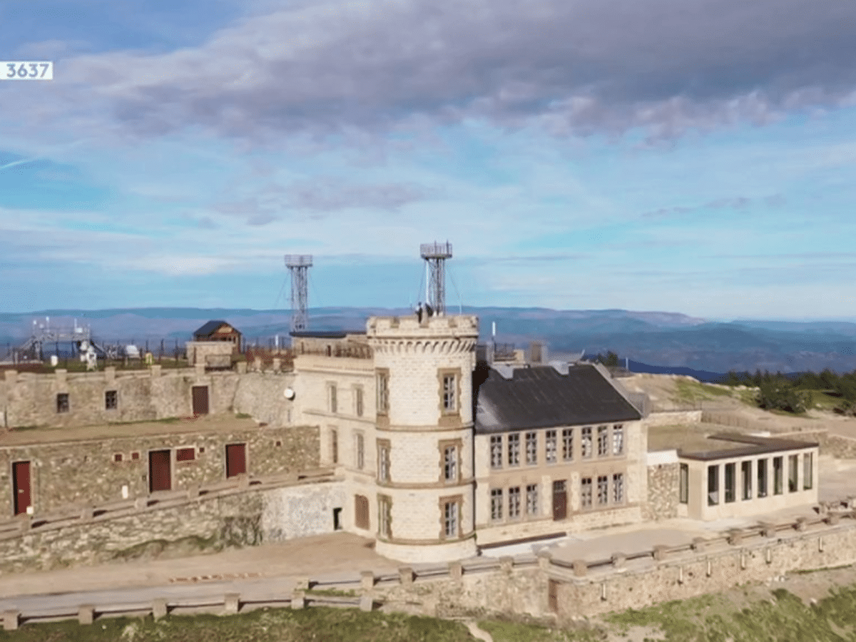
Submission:
M 457 308 L 449 312 L 457 313 Z M 482 341 L 496 323 L 496 341 L 523 348 L 544 341 L 549 354 L 605 354 L 612 350 L 629 358 L 631 370 L 665 368 L 669 372 L 710 377 L 729 370 L 770 372 L 835 372 L 856 370 L 856 323 L 847 321 L 711 322 L 677 312 L 627 310 L 557 311 L 547 308 L 463 307 L 479 316 Z M 405 315 L 397 308 L 326 307 L 310 311 L 312 330 L 365 330 L 374 315 Z M 143 308 L 114 310 L 45 310 L 27 314 L 0 314 L 0 344 L 17 345 L 30 336 L 33 320 L 51 326 L 89 325 L 94 336 L 109 342 L 145 342 L 146 339 L 187 341 L 193 330 L 213 318 L 223 319 L 247 339 L 288 336 L 290 315 L 281 310 L 223 308 Z M 645 366 L 656 364 L 657 366 Z M 635 366 L 634 366 L 635 365 Z M 693 372 L 698 373 L 693 374 Z M 715 377 L 713 377 L 715 378 Z

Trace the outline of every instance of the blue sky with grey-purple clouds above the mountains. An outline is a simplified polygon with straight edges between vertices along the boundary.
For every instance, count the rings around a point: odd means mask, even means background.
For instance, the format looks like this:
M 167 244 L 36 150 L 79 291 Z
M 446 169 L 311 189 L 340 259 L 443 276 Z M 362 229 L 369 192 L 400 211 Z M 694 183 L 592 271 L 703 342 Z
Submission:
M 0 312 L 856 318 L 856 3 L 4 3 Z M 0 68 L 0 76 L 5 68 Z M 420 294 L 421 293 L 421 294 Z

